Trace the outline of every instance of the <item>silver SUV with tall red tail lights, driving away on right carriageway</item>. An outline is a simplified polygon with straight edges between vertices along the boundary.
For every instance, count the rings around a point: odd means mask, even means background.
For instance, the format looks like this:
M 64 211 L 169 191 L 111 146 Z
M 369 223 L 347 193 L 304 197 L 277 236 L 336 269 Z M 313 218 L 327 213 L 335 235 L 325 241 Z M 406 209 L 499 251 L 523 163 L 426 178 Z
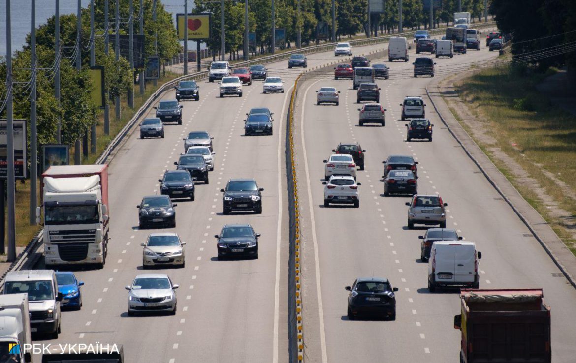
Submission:
M 446 207 L 448 203 L 442 201 L 439 195 L 415 194 L 408 205 L 408 229 L 414 228 L 414 224 L 426 224 L 440 228 L 446 228 Z

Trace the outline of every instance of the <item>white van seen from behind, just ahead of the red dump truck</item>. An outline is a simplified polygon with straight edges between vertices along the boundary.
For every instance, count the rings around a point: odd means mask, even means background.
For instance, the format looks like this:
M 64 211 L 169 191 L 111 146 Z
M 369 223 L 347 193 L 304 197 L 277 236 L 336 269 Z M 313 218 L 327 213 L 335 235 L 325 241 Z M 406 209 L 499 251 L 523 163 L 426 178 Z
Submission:
M 480 287 L 478 260 L 481 252 L 476 252 L 474 242 L 442 240 L 435 241 L 428 260 L 428 289 L 436 291 L 440 287 L 466 286 Z

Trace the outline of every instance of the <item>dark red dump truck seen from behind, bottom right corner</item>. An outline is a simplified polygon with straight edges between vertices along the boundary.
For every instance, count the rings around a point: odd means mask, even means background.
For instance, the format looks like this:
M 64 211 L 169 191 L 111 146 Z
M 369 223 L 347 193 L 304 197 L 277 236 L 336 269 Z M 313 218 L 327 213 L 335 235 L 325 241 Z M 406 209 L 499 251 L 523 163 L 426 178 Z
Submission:
M 462 289 L 460 362 L 550 363 L 550 307 L 542 289 Z

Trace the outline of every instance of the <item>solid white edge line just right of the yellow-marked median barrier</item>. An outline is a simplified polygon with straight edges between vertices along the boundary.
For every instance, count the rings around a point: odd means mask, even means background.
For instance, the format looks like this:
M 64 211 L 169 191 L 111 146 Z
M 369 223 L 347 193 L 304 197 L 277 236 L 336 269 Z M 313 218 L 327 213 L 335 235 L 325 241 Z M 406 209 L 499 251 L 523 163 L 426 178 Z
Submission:
M 328 78 L 328 77 L 326 77 Z M 300 116 L 300 136 L 302 138 L 302 152 L 304 154 L 304 170 L 306 171 L 306 188 L 308 188 L 308 205 L 310 207 L 310 224 L 312 224 L 312 242 L 314 245 L 314 269 L 316 270 L 316 295 L 318 300 L 318 316 L 320 319 L 320 346 L 322 348 L 322 362 L 328 363 L 328 353 L 326 350 L 326 331 L 324 327 L 324 308 L 322 303 L 322 291 L 320 286 L 320 261 L 318 257 L 318 242 L 316 239 L 316 223 L 314 222 L 314 208 L 312 206 L 312 188 L 310 188 L 310 172 L 308 169 L 308 158 L 306 157 L 306 143 L 304 141 L 304 110 L 306 105 L 306 96 L 308 95 L 308 91 L 310 87 L 315 85 L 317 82 L 320 82 L 323 79 L 319 79 L 306 88 L 304 92 L 304 100 L 302 101 L 302 112 Z

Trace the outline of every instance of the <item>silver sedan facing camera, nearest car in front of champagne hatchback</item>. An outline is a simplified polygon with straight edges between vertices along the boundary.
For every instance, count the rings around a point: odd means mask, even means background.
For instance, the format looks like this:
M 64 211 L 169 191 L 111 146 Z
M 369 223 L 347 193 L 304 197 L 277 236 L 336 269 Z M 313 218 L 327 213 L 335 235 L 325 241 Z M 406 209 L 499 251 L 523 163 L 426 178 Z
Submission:
M 143 311 L 164 311 L 176 315 L 176 289 L 165 274 L 142 274 L 128 285 L 128 316 Z

